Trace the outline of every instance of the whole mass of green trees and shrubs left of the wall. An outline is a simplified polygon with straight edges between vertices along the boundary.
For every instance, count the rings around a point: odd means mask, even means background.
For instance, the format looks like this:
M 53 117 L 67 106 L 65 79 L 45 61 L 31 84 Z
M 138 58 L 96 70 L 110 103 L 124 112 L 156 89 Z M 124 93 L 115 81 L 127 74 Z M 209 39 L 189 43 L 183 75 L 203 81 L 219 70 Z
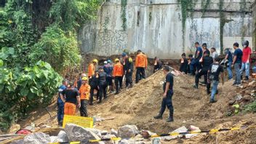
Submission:
M 62 79 L 58 73 L 80 65 L 76 33 L 80 25 L 95 19 L 101 1 L 53 0 L 49 12 L 43 12 L 49 14 L 43 15 L 48 28 L 33 23 L 35 0 L 8 0 L 0 9 L 1 130 L 47 105 Z

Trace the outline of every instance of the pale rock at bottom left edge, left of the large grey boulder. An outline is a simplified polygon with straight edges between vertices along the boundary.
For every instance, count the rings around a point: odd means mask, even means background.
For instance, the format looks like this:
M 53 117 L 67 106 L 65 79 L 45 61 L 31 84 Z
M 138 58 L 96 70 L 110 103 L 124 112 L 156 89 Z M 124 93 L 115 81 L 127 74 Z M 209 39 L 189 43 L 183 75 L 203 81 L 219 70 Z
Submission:
M 43 132 L 36 132 L 24 137 L 25 144 L 38 144 L 38 143 L 50 143 L 51 139 L 49 135 L 45 135 Z

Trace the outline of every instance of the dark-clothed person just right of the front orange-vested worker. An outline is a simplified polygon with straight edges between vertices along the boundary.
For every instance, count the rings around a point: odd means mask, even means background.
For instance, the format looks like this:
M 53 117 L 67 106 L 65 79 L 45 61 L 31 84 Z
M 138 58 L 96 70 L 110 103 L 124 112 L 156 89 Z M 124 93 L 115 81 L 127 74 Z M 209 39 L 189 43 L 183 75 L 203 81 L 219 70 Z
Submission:
M 93 105 L 93 96 L 95 90 L 97 90 L 97 99 L 99 98 L 99 73 L 95 71 L 95 74 L 92 76 L 89 86 L 91 89 L 89 90 L 89 105 Z

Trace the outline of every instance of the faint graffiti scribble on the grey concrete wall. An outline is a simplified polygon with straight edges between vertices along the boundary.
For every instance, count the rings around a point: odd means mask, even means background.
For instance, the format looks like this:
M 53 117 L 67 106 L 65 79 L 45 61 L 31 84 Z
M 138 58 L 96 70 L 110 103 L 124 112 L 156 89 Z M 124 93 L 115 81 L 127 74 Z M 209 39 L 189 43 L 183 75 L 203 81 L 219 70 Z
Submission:
M 100 30 L 96 35 L 96 50 L 105 49 L 106 51 L 101 52 L 100 55 L 117 54 L 127 47 L 127 31 Z

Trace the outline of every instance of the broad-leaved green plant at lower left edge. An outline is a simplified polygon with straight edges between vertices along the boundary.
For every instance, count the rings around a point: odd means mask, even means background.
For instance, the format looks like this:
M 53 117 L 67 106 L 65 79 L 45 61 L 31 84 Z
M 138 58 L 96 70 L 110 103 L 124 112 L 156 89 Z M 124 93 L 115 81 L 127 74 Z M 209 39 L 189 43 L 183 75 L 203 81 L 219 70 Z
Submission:
M 49 104 L 61 80 L 51 65 L 42 61 L 23 70 L 1 67 L 1 130 L 6 130 L 16 116 L 24 117 L 33 108 Z

